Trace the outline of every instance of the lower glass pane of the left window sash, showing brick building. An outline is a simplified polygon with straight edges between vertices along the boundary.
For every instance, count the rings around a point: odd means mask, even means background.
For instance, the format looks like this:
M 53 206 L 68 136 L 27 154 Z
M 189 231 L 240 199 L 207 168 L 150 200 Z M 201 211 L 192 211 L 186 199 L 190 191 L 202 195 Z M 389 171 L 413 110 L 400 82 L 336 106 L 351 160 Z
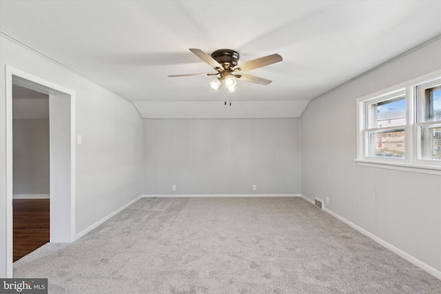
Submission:
M 370 156 L 404 158 L 404 130 L 370 132 Z

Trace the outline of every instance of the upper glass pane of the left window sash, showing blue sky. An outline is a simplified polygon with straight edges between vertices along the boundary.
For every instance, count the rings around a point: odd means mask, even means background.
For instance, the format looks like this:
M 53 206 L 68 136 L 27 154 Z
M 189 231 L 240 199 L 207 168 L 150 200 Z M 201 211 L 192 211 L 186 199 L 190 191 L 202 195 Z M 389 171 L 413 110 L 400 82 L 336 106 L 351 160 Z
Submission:
M 371 127 L 393 127 L 406 124 L 406 98 L 400 96 L 371 105 Z

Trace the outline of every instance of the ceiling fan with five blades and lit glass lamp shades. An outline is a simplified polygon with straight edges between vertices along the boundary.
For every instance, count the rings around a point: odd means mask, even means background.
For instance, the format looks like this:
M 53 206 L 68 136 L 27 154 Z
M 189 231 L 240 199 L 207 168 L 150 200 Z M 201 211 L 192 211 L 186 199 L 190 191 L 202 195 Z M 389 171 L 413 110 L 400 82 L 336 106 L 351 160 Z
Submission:
M 255 68 L 264 67 L 279 61 L 282 61 L 282 56 L 279 54 L 271 54 L 268 56 L 260 57 L 258 59 L 253 59 L 252 61 L 246 61 L 244 63 L 238 64 L 239 54 L 238 52 L 231 49 L 220 49 L 212 53 L 211 56 L 206 54 L 200 49 L 191 48 L 189 49 L 200 59 L 208 63 L 217 72 L 214 73 L 204 73 L 204 74 L 174 74 L 171 77 L 176 76 L 217 76 L 209 85 L 214 90 L 219 90 L 222 85 L 225 85 L 227 92 L 231 93 L 236 91 L 236 80 L 245 81 L 249 83 L 256 83 L 259 85 L 269 85 L 272 81 L 266 78 L 260 78 L 258 76 L 252 76 L 250 74 L 242 74 L 247 70 L 254 70 Z

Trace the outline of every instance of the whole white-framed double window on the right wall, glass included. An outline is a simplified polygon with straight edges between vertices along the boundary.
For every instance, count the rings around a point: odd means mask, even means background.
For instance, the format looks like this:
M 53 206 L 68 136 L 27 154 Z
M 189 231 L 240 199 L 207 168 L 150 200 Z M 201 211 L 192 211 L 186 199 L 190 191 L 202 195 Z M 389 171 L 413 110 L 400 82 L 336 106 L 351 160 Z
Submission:
M 356 161 L 441 171 L 441 71 L 357 104 Z

